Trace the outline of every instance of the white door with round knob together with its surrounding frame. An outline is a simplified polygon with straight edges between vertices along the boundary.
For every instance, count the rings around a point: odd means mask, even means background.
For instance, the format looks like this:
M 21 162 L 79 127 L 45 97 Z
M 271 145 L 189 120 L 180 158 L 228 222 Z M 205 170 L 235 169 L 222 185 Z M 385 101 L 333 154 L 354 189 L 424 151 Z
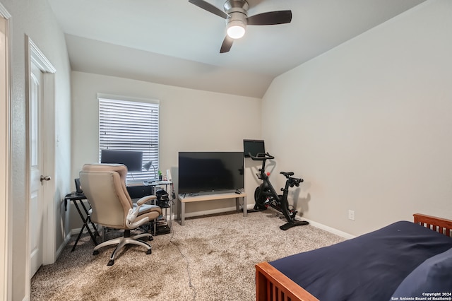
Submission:
M 30 37 L 27 40 L 28 228 L 27 270 L 31 277 L 42 264 L 55 261 L 54 201 L 54 73 L 56 69 Z M 28 286 L 28 288 L 30 288 Z M 28 294 L 30 292 L 28 291 Z

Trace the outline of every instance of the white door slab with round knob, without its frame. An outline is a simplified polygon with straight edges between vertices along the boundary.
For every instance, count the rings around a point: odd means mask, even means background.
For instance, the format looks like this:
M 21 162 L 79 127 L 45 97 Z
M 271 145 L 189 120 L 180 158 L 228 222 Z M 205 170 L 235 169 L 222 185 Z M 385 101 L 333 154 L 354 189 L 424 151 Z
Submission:
M 47 180 L 41 179 L 42 170 L 42 72 L 35 64 L 30 74 L 30 202 L 29 202 L 29 239 L 30 239 L 30 278 L 42 266 L 42 241 L 44 229 L 43 189 Z M 47 178 L 48 179 L 48 178 Z

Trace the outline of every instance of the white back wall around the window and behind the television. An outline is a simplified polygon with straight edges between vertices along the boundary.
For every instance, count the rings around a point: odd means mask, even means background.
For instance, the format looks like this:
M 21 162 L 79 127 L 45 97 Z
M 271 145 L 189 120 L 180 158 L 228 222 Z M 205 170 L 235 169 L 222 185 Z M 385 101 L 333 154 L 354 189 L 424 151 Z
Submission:
M 172 170 L 176 189 L 179 151 L 243 151 L 244 138 L 261 138 L 259 98 L 77 71 L 71 74 L 72 177 L 78 177 L 84 163 L 98 160 L 97 93 L 160 100 L 160 170 Z M 245 189 L 251 191 L 252 201 L 256 187 L 252 172 L 246 172 L 245 182 L 250 187 Z M 233 204 L 232 201 L 190 203 L 186 211 L 213 210 Z

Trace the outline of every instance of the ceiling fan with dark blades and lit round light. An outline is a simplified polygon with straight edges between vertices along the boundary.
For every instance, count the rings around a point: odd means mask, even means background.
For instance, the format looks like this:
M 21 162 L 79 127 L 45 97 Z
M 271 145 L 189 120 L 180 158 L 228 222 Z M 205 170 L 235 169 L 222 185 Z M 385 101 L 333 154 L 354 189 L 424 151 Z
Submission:
M 290 23 L 292 20 L 292 11 L 269 11 L 248 16 L 249 5 L 246 0 L 227 0 L 223 5 L 224 11 L 204 0 L 189 2 L 226 20 L 227 35 L 220 53 L 229 52 L 234 40 L 244 36 L 246 25 L 276 25 Z

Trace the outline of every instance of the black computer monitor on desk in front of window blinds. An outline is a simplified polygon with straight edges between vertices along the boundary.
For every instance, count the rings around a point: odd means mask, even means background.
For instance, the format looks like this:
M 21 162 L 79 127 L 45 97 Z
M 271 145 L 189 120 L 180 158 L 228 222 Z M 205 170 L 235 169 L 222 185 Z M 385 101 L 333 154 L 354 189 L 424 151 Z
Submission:
M 124 164 L 129 172 L 141 172 L 143 170 L 143 152 L 102 150 L 100 163 Z

